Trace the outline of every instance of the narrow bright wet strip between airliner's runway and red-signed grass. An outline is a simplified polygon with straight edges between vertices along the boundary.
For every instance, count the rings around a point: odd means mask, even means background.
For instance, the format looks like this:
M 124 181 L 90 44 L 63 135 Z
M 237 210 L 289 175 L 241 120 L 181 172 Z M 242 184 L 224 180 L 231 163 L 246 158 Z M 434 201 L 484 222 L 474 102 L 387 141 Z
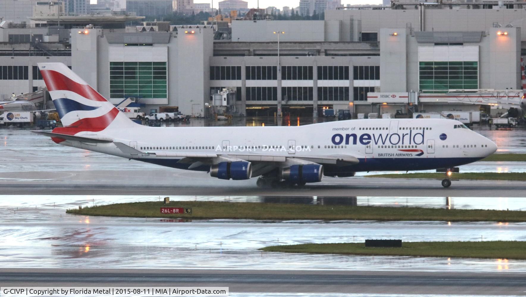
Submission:
M 516 197 L 328 197 L 328 196 L 169 196 L 171 201 L 265 202 L 319 205 L 426 207 L 447 209 L 526 210 L 526 199 Z M 109 203 L 162 201 L 139 195 L 0 195 L 0 207 L 76 208 Z M 3 218 L 6 220 L 6 218 Z

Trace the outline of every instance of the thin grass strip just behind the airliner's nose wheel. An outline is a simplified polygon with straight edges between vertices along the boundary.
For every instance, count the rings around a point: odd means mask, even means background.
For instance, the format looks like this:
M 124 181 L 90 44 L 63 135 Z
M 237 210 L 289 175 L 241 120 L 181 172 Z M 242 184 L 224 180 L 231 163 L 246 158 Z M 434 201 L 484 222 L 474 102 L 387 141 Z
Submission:
M 444 179 L 444 173 L 389 173 L 385 175 L 368 175 L 365 177 L 383 177 L 383 178 L 431 178 Z M 483 179 L 483 180 L 526 180 L 526 172 L 464 172 L 453 173 L 452 179 Z

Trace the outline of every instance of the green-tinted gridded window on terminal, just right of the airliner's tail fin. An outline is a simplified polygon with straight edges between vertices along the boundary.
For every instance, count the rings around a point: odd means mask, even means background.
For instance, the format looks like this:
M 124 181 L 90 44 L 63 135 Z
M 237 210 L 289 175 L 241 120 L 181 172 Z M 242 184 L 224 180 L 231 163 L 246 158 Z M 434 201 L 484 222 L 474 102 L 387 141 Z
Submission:
M 110 62 L 110 98 L 167 98 L 166 62 Z

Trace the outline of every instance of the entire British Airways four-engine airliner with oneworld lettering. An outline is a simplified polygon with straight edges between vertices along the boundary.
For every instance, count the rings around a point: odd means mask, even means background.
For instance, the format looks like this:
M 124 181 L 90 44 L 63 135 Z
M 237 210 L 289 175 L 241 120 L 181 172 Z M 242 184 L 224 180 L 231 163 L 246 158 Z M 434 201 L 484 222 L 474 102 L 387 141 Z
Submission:
M 148 127 L 128 119 L 62 63 L 38 68 L 64 127 L 60 145 L 257 186 L 305 185 L 357 171 L 443 169 L 491 155 L 493 141 L 450 119 L 365 119 L 299 127 Z M 449 187 L 449 175 L 442 180 Z

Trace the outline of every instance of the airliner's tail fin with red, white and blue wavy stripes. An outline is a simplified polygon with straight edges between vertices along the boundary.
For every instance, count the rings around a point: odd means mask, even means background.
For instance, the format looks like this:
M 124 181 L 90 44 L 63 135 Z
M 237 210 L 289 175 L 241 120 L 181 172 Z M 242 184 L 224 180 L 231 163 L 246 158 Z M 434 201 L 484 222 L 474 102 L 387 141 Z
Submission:
M 38 69 L 64 125 L 56 132 L 75 135 L 136 125 L 66 65 L 38 63 Z

